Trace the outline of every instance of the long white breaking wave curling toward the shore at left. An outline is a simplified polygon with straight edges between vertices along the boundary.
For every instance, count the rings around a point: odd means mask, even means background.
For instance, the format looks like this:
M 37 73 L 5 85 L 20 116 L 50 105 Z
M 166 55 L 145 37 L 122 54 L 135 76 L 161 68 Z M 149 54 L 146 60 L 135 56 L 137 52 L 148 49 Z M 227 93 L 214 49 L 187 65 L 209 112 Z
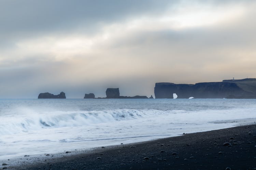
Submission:
M 59 128 L 83 126 L 97 123 L 107 123 L 122 120 L 138 119 L 159 114 L 168 114 L 168 111 L 152 109 L 118 109 L 109 111 L 82 111 L 82 112 L 29 112 L 26 114 L 1 116 L 0 134 L 15 134 L 41 130 L 42 128 Z

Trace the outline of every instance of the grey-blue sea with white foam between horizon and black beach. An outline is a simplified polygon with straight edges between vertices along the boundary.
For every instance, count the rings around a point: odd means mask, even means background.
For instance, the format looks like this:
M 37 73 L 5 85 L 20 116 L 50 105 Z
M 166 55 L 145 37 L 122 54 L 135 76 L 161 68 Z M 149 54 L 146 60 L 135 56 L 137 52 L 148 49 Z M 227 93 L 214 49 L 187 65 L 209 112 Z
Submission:
M 0 99 L 0 160 L 255 123 L 255 99 Z

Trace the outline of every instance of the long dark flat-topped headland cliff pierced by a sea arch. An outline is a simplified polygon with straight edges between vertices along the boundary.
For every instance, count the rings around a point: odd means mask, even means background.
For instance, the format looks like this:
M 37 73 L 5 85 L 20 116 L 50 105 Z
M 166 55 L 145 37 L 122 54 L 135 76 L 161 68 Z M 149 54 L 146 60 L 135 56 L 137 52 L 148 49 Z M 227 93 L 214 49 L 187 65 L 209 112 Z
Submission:
M 176 93 L 178 99 L 194 98 L 234 98 L 255 99 L 256 79 L 223 80 L 222 82 L 174 84 L 156 83 L 155 97 L 173 98 Z

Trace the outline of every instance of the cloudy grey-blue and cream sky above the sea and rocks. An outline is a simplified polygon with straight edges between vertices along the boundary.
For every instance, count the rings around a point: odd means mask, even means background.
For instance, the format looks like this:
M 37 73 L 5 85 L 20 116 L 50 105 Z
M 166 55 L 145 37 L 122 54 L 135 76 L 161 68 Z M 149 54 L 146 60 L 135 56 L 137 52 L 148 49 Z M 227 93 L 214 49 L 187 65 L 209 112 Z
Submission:
M 0 0 L 0 98 L 256 78 L 256 1 Z

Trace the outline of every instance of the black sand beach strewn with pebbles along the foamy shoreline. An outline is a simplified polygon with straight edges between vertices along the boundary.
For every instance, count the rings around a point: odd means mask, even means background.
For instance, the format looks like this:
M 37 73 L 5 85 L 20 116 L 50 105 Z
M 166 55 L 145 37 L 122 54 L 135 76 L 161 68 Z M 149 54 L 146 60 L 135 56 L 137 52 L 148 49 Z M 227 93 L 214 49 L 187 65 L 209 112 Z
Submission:
M 11 160 L 6 160 L 3 163 L 10 165 L 1 163 L 1 168 L 256 169 L 256 125 L 111 146 L 89 153 L 65 153 L 59 158 L 44 155 L 36 163 L 29 159 L 22 166 L 11 166 Z

